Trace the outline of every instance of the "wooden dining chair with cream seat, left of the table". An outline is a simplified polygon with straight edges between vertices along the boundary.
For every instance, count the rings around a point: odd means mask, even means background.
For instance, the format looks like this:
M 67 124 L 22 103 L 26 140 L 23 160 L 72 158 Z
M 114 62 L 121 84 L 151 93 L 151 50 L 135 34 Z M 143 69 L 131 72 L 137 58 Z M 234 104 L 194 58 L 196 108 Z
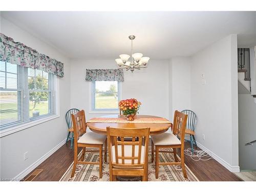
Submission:
M 106 136 L 96 134 L 94 132 L 86 132 L 86 115 L 84 111 L 81 110 L 75 114 L 71 115 L 74 128 L 74 165 L 72 169 L 71 177 L 74 177 L 76 164 L 96 164 L 99 165 L 99 178 L 102 178 L 102 148 L 104 144 L 104 160 L 106 162 Z M 77 157 L 78 147 L 82 147 L 82 156 L 80 159 Z M 86 147 L 96 147 L 99 148 L 99 162 L 88 162 L 83 161 L 84 154 L 86 153 Z M 89 151 L 98 152 L 98 151 Z

